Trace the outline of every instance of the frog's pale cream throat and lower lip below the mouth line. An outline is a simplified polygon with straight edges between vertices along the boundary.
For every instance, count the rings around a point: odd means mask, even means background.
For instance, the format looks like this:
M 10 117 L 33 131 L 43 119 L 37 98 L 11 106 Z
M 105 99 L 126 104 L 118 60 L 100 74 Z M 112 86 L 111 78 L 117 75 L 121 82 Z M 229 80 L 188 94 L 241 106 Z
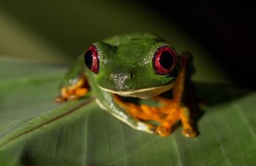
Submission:
M 148 99 L 154 96 L 158 96 L 161 93 L 167 92 L 168 90 L 172 89 L 173 86 L 174 86 L 174 82 L 172 82 L 172 84 L 170 85 L 158 86 L 153 88 L 145 88 L 145 89 L 139 89 L 139 90 L 133 90 L 133 91 L 125 91 L 125 92 L 115 92 L 109 89 L 101 88 L 100 86 L 98 87 L 108 92 L 118 94 L 119 96 Z

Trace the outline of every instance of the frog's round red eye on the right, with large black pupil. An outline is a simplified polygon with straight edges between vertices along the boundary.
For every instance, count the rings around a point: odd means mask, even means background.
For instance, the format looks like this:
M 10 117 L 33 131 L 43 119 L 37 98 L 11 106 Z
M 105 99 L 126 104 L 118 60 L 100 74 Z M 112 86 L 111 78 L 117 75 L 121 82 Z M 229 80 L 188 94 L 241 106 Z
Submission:
M 170 73 L 176 65 L 176 53 L 174 49 L 167 45 L 156 49 L 152 57 L 152 65 L 156 74 L 165 75 Z

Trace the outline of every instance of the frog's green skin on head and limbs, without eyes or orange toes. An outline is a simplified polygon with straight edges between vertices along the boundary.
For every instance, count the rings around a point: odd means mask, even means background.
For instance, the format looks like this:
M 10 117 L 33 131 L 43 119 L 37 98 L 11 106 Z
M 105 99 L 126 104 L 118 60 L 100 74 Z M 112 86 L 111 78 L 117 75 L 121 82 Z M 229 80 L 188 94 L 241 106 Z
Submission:
M 180 72 L 180 64 L 176 64 L 172 73 L 162 76 L 154 72 L 151 60 L 157 48 L 162 45 L 172 46 L 152 34 L 113 36 L 94 45 L 100 59 L 98 74 L 85 67 L 82 55 L 65 77 L 64 86 L 74 84 L 85 73 L 102 109 L 137 130 L 155 132 L 155 128 L 146 122 L 131 117 L 114 101 L 112 93 L 146 99 L 170 90 Z

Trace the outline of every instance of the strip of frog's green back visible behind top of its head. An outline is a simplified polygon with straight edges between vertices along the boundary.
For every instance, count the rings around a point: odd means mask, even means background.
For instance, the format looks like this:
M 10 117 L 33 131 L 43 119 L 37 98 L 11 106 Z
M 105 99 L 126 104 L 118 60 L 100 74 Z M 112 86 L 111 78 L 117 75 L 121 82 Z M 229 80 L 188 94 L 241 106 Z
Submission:
M 115 46 L 115 45 L 129 42 L 130 40 L 145 40 L 146 42 L 150 42 L 150 43 L 164 42 L 164 40 L 161 39 L 159 36 L 150 34 L 150 33 L 114 35 L 111 38 L 103 39 L 102 42 Z

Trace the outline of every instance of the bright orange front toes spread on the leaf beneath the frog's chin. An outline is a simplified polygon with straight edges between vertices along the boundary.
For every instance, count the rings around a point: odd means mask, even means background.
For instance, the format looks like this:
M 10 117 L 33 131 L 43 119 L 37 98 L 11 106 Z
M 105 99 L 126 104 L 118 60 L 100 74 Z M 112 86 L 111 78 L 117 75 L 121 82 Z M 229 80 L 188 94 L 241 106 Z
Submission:
M 114 94 L 114 101 L 122 107 L 125 107 L 128 113 L 136 119 L 142 121 L 159 122 L 156 127 L 156 132 L 161 136 L 168 136 L 171 134 L 171 126 L 176 120 L 181 120 L 183 124 L 182 134 L 189 138 L 196 136 L 196 131 L 193 130 L 190 119 L 189 110 L 187 107 L 179 106 L 179 103 L 172 99 L 154 97 L 154 100 L 162 104 L 161 107 L 152 107 L 147 105 L 135 105 L 134 103 L 126 103 Z

